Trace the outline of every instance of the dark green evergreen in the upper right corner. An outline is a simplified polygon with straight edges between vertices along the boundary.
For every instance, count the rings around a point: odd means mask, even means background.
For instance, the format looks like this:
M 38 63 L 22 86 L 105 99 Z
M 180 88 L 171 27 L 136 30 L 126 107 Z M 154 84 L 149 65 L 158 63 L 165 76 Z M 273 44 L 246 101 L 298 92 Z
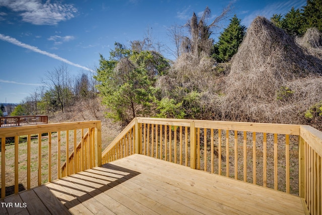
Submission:
M 315 27 L 322 32 L 322 1 L 321 0 L 307 0 L 306 6 L 303 7 L 303 28 L 302 33 L 308 28 Z

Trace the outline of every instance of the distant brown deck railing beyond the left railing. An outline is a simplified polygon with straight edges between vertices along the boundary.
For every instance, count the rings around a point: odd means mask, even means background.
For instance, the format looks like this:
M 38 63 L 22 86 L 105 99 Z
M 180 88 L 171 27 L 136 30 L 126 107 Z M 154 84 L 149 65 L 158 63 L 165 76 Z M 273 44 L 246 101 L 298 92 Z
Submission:
M 6 116 L 0 117 L 0 127 L 47 124 L 48 116 L 30 115 L 30 116 Z

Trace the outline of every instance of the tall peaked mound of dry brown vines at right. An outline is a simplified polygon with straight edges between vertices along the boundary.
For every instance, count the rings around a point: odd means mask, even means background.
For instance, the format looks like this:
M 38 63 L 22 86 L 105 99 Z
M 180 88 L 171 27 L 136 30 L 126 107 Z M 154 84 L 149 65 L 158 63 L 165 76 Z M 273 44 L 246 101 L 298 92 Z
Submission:
M 225 79 L 222 118 L 303 123 L 322 100 L 322 61 L 282 29 L 257 17 L 247 30 Z

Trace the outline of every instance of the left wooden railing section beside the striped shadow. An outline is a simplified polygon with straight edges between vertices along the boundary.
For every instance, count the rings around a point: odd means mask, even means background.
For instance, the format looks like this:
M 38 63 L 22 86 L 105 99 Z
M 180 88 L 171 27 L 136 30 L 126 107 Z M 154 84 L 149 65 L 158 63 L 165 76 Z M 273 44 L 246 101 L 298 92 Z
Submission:
M 14 145 L 6 146 L 6 139 L 11 137 Z M 1 198 L 18 193 L 20 184 L 30 189 L 102 165 L 101 121 L 3 127 L 0 138 Z M 26 141 L 20 141 L 22 138 Z M 70 152 L 75 152 L 72 162 Z M 67 162 L 62 167 L 64 161 Z M 9 187 L 14 187 L 14 191 L 9 192 Z

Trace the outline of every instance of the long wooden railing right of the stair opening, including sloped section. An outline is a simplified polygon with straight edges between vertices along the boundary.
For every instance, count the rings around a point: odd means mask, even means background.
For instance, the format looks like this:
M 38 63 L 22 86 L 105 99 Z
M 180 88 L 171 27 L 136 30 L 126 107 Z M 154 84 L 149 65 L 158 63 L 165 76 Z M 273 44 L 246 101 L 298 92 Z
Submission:
M 135 118 L 102 162 L 134 153 L 298 194 L 321 214 L 322 132 L 310 126 Z

